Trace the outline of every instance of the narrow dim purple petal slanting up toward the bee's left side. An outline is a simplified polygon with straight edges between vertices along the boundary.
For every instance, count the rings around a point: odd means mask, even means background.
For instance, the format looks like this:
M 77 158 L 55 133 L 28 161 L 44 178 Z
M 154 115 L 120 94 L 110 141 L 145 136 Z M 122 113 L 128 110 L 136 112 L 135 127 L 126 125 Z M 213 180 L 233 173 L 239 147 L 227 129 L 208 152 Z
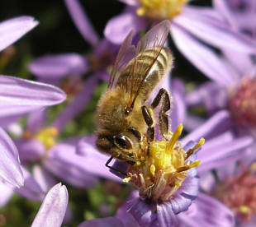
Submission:
M 92 75 L 84 82 L 83 90 L 55 118 L 52 127 L 56 127 L 59 132 L 62 131 L 65 125 L 75 118 L 86 106 L 92 97 L 95 86 L 97 86 L 97 77 Z

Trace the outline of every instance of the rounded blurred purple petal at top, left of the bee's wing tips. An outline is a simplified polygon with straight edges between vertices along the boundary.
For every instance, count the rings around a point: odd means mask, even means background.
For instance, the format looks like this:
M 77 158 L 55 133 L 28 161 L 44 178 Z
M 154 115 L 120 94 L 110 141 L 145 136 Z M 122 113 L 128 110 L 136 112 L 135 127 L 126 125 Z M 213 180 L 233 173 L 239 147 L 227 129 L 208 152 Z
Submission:
M 134 9 L 135 10 L 135 9 Z M 121 44 L 131 30 L 136 33 L 145 30 L 146 21 L 135 12 L 125 12 L 107 22 L 104 35 L 114 44 Z

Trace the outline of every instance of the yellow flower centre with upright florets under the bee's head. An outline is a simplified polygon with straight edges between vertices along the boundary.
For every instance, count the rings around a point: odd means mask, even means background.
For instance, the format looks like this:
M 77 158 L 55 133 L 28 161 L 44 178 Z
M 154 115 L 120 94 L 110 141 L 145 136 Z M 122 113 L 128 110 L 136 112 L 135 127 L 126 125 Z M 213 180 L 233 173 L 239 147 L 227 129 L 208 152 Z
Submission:
M 124 182 L 134 183 L 140 197 L 154 202 L 168 201 L 182 185 L 187 170 L 200 164 L 199 160 L 192 162 L 188 158 L 204 143 L 204 139 L 186 152 L 178 141 L 182 131 L 183 125 L 180 124 L 175 132 L 169 132 L 169 141 L 151 142 L 147 151 L 141 151 L 144 161 L 130 165 Z

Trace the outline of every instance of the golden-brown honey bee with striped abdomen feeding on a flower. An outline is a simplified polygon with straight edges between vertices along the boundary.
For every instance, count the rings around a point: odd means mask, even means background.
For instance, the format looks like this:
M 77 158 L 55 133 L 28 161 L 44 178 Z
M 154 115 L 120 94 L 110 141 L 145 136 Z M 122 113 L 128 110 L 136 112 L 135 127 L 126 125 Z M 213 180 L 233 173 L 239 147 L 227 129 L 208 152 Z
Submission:
M 155 25 L 140 39 L 136 48 L 131 45 L 131 31 L 117 54 L 107 92 L 97 105 L 96 146 L 111 155 L 111 159 L 130 164 L 137 161 L 136 153 L 144 141 L 154 140 L 153 109 L 160 102 L 159 131 L 163 137 L 168 132 L 166 112 L 171 103 L 167 90 L 160 89 L 151 105 L 146 101 L 172 66 L 173 57 L 164 47 L 169 27 L 169 21 Z

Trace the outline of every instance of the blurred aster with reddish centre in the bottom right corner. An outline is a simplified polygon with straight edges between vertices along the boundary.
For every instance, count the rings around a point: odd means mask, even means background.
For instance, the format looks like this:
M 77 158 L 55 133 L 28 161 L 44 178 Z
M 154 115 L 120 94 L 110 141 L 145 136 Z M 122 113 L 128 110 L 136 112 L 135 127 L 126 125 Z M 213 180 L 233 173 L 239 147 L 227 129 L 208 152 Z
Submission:
M 228 164 L 216 169 L 215 177 L 206 173 L 201 178 L 201 187 L 234 212 L 236 226 L 255 225 L 256 173 L 251 155 L 245 156 L 239 164 Z

